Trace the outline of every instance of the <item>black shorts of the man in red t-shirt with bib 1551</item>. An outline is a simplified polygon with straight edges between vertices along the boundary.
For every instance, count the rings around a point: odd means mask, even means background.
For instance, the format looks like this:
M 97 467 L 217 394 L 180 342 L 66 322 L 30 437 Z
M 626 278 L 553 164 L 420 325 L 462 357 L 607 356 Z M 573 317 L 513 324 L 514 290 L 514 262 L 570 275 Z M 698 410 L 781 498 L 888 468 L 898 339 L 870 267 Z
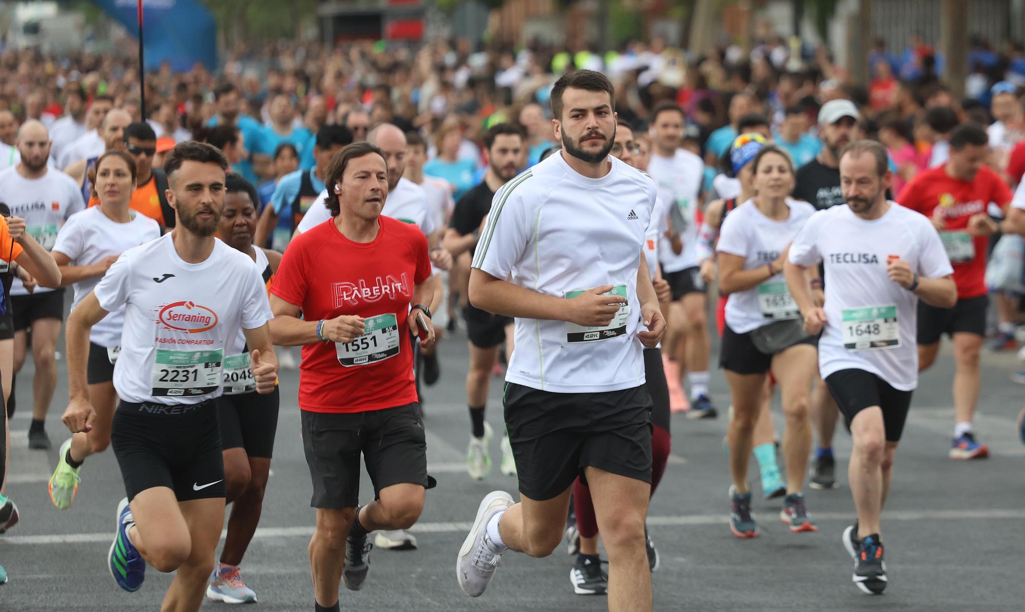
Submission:
M 417 403 L 364 412 L 302 412 L 302 449 L 314 508 L 356 508 L 360 452 L 374 495 L 394 484 L 427 487 L 427 443 Z

